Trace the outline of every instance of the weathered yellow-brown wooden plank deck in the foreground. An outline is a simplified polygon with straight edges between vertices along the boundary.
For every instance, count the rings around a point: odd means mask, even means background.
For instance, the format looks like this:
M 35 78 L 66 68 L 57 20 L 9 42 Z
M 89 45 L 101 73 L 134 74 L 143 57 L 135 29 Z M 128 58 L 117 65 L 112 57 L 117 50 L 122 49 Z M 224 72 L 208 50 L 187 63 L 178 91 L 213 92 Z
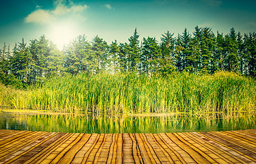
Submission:
M 0 163 L 256 163 L 256 130 L 161 134 L 0 130 Z

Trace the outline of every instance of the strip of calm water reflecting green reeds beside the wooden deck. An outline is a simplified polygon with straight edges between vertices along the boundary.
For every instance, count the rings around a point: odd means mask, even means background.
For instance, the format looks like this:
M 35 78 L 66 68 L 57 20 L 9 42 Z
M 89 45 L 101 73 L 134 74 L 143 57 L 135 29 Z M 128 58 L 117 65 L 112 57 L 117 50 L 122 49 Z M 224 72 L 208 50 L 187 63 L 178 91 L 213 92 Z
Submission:
M 255 112 L 162 116 L 0 113 L 0 128 L 60 133 L 168 133 L 256 128 Z

